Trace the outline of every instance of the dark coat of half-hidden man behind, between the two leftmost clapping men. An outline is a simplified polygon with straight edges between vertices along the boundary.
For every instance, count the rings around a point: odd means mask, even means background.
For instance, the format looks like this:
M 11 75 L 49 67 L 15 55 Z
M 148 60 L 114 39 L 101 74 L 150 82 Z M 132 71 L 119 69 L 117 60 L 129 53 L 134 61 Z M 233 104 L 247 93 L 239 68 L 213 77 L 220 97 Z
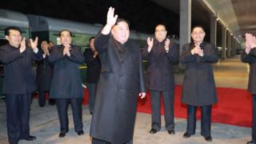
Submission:
M 53 65 L 49 62 L 49 56 L 46 55 L 41 61 L 38 61 L 37 67 L 37 86 L 40 91 L 49 91 L 50 82 L 53 75 Z

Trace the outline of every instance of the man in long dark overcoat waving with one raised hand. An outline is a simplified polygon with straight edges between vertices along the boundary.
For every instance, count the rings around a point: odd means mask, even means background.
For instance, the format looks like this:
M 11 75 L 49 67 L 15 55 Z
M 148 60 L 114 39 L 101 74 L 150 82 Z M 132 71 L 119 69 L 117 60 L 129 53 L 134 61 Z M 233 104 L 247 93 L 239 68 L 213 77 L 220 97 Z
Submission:
M 126 20 L 117 18 L 110 7 L 95 40 L 102 70 L 90 126 L 93 144 L 132 143 L 137 98 L 146 96 L 140 48 L 128 39 Z

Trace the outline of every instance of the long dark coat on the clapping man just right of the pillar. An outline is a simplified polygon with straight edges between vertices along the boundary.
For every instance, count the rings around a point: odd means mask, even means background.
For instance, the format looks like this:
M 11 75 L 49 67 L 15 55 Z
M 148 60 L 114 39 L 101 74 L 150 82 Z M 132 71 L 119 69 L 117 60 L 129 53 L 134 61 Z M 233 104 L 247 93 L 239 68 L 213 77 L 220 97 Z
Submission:
M 217 102 L 212 63 L 218 62 L 217 48 L 202 42 L 202 57 L 191 54 L 194 44 L 182 47 L 180 62 L 186 64 L 182 87 L 182 102 L 191 106 L 208 106 Z

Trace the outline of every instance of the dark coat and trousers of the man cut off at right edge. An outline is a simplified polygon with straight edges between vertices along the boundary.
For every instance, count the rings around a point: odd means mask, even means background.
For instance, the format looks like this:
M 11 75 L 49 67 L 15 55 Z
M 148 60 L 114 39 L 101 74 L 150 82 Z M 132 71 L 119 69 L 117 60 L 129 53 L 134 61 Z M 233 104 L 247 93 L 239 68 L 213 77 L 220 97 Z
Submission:
M 241 54 L 242 62 L 250 64 L 248 91 L 253 96 L 253 124 L 252 124 L 252 141 L 256 142 L 256 49 L 250 50 L 249 54 L 246 54 L 244 50 Z

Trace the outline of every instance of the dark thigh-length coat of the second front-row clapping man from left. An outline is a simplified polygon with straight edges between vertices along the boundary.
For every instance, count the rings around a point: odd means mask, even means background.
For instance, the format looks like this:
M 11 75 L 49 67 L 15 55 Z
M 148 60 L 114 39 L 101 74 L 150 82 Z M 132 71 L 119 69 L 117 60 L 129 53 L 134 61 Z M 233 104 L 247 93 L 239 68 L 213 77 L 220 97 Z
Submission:
M 83 98 L 79 66 L 84 62 L 81 48 L 70 47 L 70 57 L 63 55 L 64 46 L 53 46 L 49 62 L 54 64 L 50 98 Z

